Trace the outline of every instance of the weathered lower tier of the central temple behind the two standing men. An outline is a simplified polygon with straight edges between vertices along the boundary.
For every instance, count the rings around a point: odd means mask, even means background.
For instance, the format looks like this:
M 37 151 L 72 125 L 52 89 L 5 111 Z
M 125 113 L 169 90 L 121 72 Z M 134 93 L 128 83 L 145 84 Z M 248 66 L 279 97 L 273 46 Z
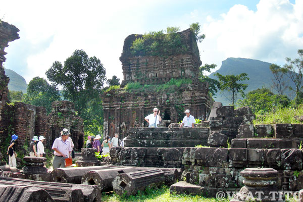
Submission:
M 157 107 L 161 111 L 162 123 L 177 123 L 185 116 L 185 110 L 190 109 L 195 118 L 205 119 L 210 113 L 208 84 L 194 88 L 187 84 L 175 92 L 121 92 L 112 96 L 108 92 L 103 97 L 104 134 L 111 137 L 119 133 L 126 137 L 131 127 L 147 126 L 144 117 L 152 114 Z

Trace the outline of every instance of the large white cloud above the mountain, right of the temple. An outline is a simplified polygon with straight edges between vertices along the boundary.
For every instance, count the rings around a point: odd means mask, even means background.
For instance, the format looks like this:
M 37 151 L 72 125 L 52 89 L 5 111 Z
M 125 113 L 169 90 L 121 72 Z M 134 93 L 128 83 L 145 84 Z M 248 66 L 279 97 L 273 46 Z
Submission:
M 297 49 L 303 48 L 302 2 L 292 5 L 287 0 L 261 0 L 256 12 L 235 5 L 220 19 L 208 17 L 203 26 L 207 38 L 200 46 L 211 49 L 201 58 L 218 67 L 228 57 L 283 65 L 285 57 L 295 58 Z

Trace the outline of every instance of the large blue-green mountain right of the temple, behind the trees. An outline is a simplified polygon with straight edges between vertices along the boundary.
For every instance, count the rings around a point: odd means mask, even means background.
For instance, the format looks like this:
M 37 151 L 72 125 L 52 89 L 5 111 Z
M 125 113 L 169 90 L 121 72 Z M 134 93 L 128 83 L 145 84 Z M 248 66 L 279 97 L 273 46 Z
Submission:
M 219 70 L 209 75 L 210 78 L 217 79 L 214 75 L 219 73 L 222 75 L 238 75 L 243 72 L 247 73 L 249 80 L 241 81 L 241 83 L 248 84 L 248 87 L 245 90 L 245 93 L 256 90 L 258 88 L 267 87 L 271 89 L 274 93 L 275 90 L 271 88 L 272 79 L 274 76 L 269 69 L 271 63 L 263 62 L 260 60 L 252 60 L 245 58 L 227 58 L 225 61 L 222 61 L 222 65 Z M 288 84 L 291 84 L 291 81 L 287 78 Z M 290 92 L 287 92 L 287 95 Z M 224 93 L 228 95 L 227 92 Z M 290 94 L 289 94 L 290 96 Z M 221 102 L 223 105 L 229 105 L 231 102 L 220 92 L 217 93 L 216 102 Z

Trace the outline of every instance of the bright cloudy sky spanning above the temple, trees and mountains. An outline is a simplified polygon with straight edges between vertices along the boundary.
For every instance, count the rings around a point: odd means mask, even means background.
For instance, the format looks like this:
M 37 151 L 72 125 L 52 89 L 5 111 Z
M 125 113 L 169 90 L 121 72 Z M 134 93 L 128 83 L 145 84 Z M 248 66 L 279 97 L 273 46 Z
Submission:
M 107 78 L 123 80 L 124 39 L 130 34 L 189 28 L 198 22 L 206 38 L 198 43 L 204 64 L 229 57 L 283 66 L 303 48 L 303 0 L 128 0 L 1 2 L 0 19 L 20 29 L 5 48 L 5 68 L 26 82 L 64 61 L 76 49 L 100 59 Z

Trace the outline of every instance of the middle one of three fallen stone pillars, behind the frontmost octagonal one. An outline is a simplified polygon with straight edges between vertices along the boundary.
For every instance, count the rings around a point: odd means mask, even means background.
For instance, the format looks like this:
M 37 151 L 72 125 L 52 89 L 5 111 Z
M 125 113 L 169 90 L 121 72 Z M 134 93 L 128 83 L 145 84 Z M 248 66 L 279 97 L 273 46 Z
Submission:
M 97 185 L 100 191 L 112 191 L 113 180 L 121 173 L 138 171 L 135 168 L 113 168 L 106 170 L 92 170 L 85 173 L 81 178 L 81 184 Z

